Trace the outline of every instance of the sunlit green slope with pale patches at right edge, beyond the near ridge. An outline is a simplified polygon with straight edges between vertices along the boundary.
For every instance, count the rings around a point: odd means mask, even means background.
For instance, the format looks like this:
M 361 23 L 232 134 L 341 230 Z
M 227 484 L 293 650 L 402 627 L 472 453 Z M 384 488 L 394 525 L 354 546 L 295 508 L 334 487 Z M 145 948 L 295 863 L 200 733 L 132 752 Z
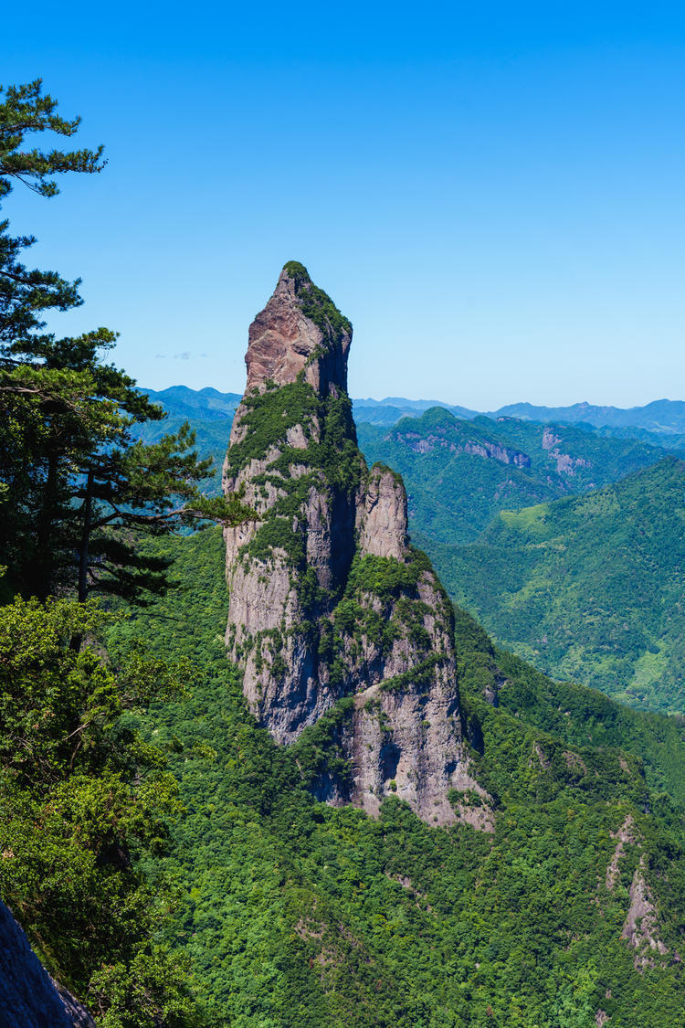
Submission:
M 685 464 L 668 457 L 429 549 L 452 595 L 541 670 L 685 712 L 684 526 Z

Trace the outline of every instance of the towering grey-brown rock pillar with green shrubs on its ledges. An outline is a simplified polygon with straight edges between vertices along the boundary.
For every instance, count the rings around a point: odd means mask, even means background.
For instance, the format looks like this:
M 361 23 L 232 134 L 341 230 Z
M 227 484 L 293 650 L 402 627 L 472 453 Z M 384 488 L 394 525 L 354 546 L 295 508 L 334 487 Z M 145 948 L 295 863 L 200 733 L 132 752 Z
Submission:
M 226 529 L 226 642 L 278 743 L 329 712 L 317 796 L 376 813 L 396 795 L 447 823 L 451 787 L 483 793 L 462 740 L 452 611 L 408 544 L 402 480 L 357 448 L 351 335 L 295 262 L 250 328 L 224 488 L 243 487 L 259 518 Z

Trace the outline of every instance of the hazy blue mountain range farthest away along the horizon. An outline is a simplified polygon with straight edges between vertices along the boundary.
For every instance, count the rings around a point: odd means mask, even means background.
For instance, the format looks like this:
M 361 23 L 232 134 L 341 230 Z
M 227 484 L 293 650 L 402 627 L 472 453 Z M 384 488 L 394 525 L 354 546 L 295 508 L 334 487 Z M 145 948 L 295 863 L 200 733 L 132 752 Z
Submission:
M 201 420 L 232 417 L 241 395 L 220 393 L 212 387 L 192 390 L 187 386 L 172 386 L 159 392 L 144 389 L 143 392 L 148 393 L 157 403 L 163 404 L 169 414 Z M 466 420 L 479 415 L 495 420 L 515 417 L 523 421 L 557 421 L 563 425 L 586 425 L 608 430 L 640 429 L 659 435 L 672 433 L 685 435 L 683 400 L 654 400 L 644 407 L 627 409 L 595 406 L 589 403 L 574 403 L 570 407 L 536 407 L 530 403 L 511 403 L 500 407 L 499 410 L 477 411 L 444 403 L 441 400 L 408 400 L 405 397 L 389 396 L 384 400 L 356 399 L 352 401 L 352 405 L 357 424 L 366 421 L 370 425 L 394 425 L 401 417 L 419 417 L 430 407 L 443 407 L 455 417 Z

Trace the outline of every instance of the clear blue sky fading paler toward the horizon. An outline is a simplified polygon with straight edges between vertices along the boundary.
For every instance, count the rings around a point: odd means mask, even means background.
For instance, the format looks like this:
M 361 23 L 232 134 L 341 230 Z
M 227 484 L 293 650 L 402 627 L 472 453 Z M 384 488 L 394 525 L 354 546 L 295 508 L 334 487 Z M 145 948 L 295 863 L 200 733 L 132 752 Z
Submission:
M 22 10 L 24 8 L 24 11 Z M 12 4 L 101 176 L 4 215 L 142 383 L 240 392 L 286 260 L 354 324 L 354 396 L 685 398 L 685 8 Z

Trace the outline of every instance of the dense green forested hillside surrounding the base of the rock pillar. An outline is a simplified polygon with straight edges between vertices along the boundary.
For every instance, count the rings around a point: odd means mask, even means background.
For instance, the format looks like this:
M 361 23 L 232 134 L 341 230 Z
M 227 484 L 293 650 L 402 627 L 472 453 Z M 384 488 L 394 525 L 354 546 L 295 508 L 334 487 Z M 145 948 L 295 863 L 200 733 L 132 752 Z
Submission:
M 667 798 L 683 798 L 685 749 L 673 721 L 556 686 L 459 615 L 459 687 L 494 836 L 430 829 L 396 800 L 379 820 L 316 803 L 305 771 L 326 736 L 275 746 L 226 662 L 220 533 L 156 546 L 177 588 L 134 610 L 110 645 L 143 632 L 197 667 L 192 696 L 154 704 L 142 725 L 185 807 L 154 865 L 181 884 L 169 938 L 219 1024 L 591 1028 L 604 1011 L 610 1025 L 672 1028 L 685 1017 L 673 962 L 683 830 Z M 642 859 L 659 890 L 642 931 L 663 940 L 662 957 L 621 938 Z

